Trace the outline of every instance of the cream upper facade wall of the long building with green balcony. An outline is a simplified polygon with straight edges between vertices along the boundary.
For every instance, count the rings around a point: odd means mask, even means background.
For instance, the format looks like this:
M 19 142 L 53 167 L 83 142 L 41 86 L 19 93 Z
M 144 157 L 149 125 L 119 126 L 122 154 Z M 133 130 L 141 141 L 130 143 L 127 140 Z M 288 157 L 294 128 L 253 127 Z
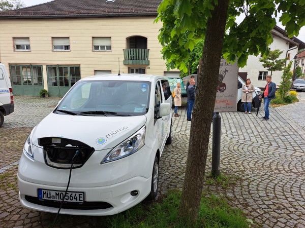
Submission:
M 149 49 L 148 74 L 163 75 L 166 70 L 157 35 L 161 22 L 155 17 L 80 18 L 0 20 L 0 61 L 6 64 L 43 65 L 46 82 L 46 65 L 80 65 L 81 78 L 94 75 L 95 70 L 128 73 L 124 65 L 123 49 L 127 38 L 140 35 L 147 38 Z M 29 37 L 31 51 L 14 51 L 13 37 Z M 53 51 L 52 37 L 70 37 L 70 51 Z M 93 51 L 92 37 L 111 37 L 111 51 Z M 119 58 L 119 60 L 118 60 Z M 45 83 L 47 89 L 47 84 Z

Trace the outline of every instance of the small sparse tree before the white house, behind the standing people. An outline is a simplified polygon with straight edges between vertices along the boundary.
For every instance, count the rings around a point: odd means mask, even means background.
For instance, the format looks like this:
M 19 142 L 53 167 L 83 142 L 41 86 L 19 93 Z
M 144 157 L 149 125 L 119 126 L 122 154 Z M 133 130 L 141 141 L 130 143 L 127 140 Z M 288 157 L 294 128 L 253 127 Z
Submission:
M 271 71 L 271 76 L 273 71 L 283 70 L 287 58 L 278 59 L 282 53 L 283 51 L 276 49 L 270 51 L 267 56 L 259 59 L 260 62 L 263 62 L 263 67 Z

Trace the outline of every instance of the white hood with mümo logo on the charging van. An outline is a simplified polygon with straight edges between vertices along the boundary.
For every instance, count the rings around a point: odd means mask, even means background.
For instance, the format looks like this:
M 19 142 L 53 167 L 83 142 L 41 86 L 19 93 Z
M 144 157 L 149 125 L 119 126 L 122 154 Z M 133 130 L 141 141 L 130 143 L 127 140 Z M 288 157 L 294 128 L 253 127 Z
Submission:
M 146 123 L 146 116 L 94 117 L 50 113 L 33 130 L 33 144 L 38 138 L 66 138 L 83 142 L 95 150 L 113 148 L 137 132 Z

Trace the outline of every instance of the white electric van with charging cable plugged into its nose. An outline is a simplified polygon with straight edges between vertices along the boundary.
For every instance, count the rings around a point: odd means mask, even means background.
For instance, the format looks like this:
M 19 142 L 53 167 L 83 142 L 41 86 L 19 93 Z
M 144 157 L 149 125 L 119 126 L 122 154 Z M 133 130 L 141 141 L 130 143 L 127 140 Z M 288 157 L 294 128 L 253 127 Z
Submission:
M 163 84 L 166 77 L 145 74 L 78 81 L 25 141 L 21 205 L 112 215 L 154 199 L 160 157 L 172 141 L 172 99 Z

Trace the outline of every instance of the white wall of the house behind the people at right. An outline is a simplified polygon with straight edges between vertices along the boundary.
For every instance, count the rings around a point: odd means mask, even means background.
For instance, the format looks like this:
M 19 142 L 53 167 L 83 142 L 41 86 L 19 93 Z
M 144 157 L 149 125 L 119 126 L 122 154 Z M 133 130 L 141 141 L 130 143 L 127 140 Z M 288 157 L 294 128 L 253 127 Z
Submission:
M 289 44 L 281 39 L 278 36 L 273 36 L 273 43 L 269 46 L 270 50 L 273 51 L 275 49 L 280 49 L 283 51 L 283 53 L 280 56 L 280 59 L 286 58 L 286 52 L 289 49 Z M 297 54 L 297 48 L 289 51 L 290 53 L 290 60 L 287 60 L 286 65 L 288 65 L 289 61 L 293 61 L 293 57 Z M 260 55 L 254 56 L 251 55 L 249 56 L 247 60 L 247 65 L 245 67 L 239 68 L 239 72 L 248 72 L 248 78 L 251 79 L 251 82 L 256 86 L 260 88 L 264 88 L 266 85 L 265 80 L 259 80 L 259 71 L 268 71 L 262 66 L 262 62 L 259 61 Z M 293 65 L 294 62 L 292 63 L 291 66 L 291 71 L 293 71 Z M 267 75 L 270 75 L 270 71 L 268 71 Z M 277 86 L 280 85 L 282 81 L 282 75 L 283 71 L 273 71 L 272 72 L 272 82 L 275 82 Z

